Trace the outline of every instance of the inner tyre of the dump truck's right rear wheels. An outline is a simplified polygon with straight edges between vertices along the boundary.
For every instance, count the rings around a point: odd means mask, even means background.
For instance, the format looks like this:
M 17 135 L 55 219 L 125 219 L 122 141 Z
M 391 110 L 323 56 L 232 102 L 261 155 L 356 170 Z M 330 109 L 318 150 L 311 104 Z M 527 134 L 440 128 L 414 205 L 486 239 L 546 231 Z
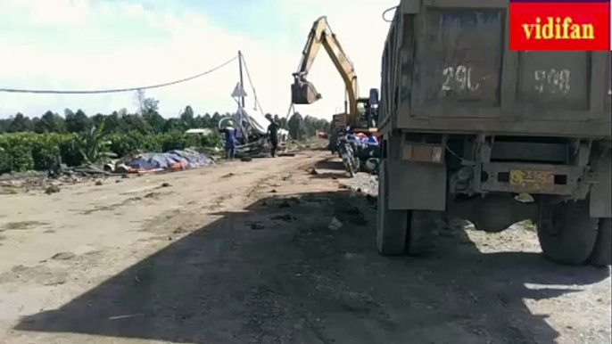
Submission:
M 585 201 L 541 205 L 538 239 L 544 257 L 558 264 L 583 264 L 595 246 L 597 222 Z

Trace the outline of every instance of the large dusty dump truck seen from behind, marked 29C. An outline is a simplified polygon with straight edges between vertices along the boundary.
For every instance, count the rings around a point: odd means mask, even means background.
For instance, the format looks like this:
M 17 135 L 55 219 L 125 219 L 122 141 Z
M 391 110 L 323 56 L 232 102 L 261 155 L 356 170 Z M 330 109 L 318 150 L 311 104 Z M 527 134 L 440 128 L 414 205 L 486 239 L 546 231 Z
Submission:
M 382 57 L 377 249 L 448 218 L 531 220 L 559 264 L 607 266 L 610 52 L 510 51 L 509 0 L 401 0 Z

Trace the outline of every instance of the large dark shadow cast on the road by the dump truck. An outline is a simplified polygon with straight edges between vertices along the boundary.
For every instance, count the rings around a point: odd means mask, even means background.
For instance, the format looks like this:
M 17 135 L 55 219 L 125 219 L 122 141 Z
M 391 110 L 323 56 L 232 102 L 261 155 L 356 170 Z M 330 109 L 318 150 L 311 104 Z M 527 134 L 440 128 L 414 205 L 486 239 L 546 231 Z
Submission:
M 219 213 L 14 329 L 218 344 L 552 343 L 558 331 L 524 299 L 608 277 L 537 253 L 484 254 L 461 231 L 442 238 L 438 256 L 380 257 L 376 210 L 351 192 L 272 197 L 245 210 Z

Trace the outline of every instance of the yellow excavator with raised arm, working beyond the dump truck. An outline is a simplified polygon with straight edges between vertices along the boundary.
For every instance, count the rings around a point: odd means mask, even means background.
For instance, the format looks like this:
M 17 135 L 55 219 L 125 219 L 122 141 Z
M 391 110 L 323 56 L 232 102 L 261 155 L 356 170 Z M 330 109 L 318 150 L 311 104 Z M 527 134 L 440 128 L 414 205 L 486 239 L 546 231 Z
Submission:
M 372 88 L 370 89 L 369 97 L 358 98 L 359 86 L 355 69 L 329 27 L 327 17 L 325 16 L 318 18 L 312 24 L 312 29 L 310 29 L 306 46 L 302 52 L 302 61 L 300 61 L 297 72 L 293 74 L 294 84 L 291 86 L 292 102 L 294 104 L 311 104 L 321 99 L 321 94 L 306 79 L 321 45 L 323 45 L 336 70 L 338 70 L 343 78 L 346 88 L 347 100 L 344 102 L 344 112 L 347 116 L 343 125 L 350 126 L 355 133 L 376 133 L 378 90 Z M 340 116 L 342 114 L 335 115 L 335 117 Z M 332 123 L 339 124 L 339 121 L 334 120 Z M 332 128 L 332 130 L 335 129 Z

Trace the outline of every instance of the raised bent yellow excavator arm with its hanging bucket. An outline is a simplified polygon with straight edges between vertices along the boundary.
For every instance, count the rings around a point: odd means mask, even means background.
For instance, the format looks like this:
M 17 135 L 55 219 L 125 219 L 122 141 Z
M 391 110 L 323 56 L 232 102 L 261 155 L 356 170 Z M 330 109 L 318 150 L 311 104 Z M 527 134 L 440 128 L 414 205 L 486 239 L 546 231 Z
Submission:
M 294 84 L 291 86 L 292 102 L 295 104 L 311 104 L 321 98 L 321 94 L 318 94 L 316 88 L 306 78 L 321 45 L 323 45 L 336 70 L 338 70 L 343 78 L 348 97 L 349 118 L 356 119 L 358 116 L 357 95 L 359 94 L 357 75 L 351 61 L 349 61 L 346 53 L 344 53 L 342 45 L 340 45 L 335 34 L 329 28 L 326 17 L 320 17 L 312 24 L 306 46 L 304 46 L 302 52 L 302 61 L 300 61 L 297 72 L 293 74 Z

